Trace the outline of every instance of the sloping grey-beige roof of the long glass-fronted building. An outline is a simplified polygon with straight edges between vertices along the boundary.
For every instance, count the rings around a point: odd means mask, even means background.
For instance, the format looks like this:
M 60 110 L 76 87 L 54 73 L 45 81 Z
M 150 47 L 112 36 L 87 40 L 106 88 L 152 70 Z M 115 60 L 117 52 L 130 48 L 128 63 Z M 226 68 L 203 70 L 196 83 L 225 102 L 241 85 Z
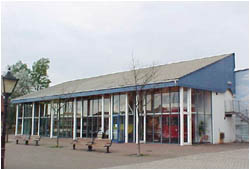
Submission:
M 224 54 L 214 57 L 155 66 L 154 68 L 157 71 L 157 75 L 154 77 L 153 80 L 151 80 L 148 83 L 151 84 L 159 82 L 169 82 L 171 80 L 179 79 L 187 74 L 197 71 L 207 65 L 215 63 L 231 55 L 232 54 Z M 139 69 L 138 72 L 144 74 L 146 72 L 150 72 L 151 70 L 152 70 L 151 67 L 142 68 Z M 33 92 L 31 94 L 27 94 L 25 96 L 15 98 L 14 100 L 16 101 L 21 99 L 40 98 L 45 96 L 56 96 L 69 93 L 120 88 L 133 85 L 134 85 L 133 72 L 125 71 L 125 72 L 102 75 L 92 78 L 85 78 L 85 79 L 64 82 L 37 92 Z

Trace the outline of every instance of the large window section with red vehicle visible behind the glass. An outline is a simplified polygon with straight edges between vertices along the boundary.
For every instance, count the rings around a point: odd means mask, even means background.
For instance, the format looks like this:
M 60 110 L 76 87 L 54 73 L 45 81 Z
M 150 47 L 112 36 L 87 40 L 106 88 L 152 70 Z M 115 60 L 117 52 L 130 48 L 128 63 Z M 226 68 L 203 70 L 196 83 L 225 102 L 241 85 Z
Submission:
M 146 101 L 146 141 L 179 143 L 179 88 L 147 91 Z

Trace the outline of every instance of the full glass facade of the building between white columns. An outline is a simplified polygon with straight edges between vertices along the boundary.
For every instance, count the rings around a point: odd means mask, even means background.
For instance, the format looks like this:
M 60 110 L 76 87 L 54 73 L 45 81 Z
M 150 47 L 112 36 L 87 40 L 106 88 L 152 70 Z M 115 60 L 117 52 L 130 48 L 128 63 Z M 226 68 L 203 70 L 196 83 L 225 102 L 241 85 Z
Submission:
M 139 140 L 145 140 L 147 143 L 180 143 L 179 87 L 146 90 L 140 93 L 138 98 L 140 102 L 139 132 L 136 132 L 136 95 L 135 92 L 128 92 L 79 97 L 75 99 L 75 104 L 73 99 L 53 103 L 51 101 L 37 102 L 34 105 L 33 134 L 50 136 L 52 130 L 53 136 L 59 133 L 60 137 L 72 138 L 75 108 L 75 133 L 78 138 L 95 138 L 97 133 L 103 130 L 104 138 L 111 138 L 110 135 L 112 135 L 114 142 L 125 142 L 125 133 L 127 133 L 128 142 L 135 142 L 138 133 Z M 212 143 L 211 92 L 192 89 L 191 100 L 192 142 Z M 31 134 L 32 106 L 31 103 L 18 105 L 18 134 L 21 134 L 22 128 L 23 134 Z M 126 119 L 126 111 L 128 111 L 128 119 Z M 187 88 L 183 91 L 183 111 L 184 142 L 187 142 Z M 125 130 L 126 124 L 127 131 Z

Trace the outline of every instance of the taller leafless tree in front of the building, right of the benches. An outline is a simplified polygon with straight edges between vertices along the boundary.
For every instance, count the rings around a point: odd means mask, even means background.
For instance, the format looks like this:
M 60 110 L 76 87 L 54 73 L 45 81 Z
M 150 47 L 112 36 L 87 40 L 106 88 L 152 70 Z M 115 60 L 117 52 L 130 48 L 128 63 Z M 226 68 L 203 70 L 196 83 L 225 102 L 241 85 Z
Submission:
M 152 83 L 155 78 L 157 77 L 158 69 L 155 67 L 155 63 L 153 63 L 148 68 L 139 69 L 139 62 L 135 61 L 134 57 L 132 56 L 131 62 L 131 81 L 130 85 L 134 86 L 135 88 L 135 114 L 136 114 L 136 126 L 138 131 L 137 136 L 137 156 L 141 156 L 141 146 L 140 146 L 140 136 L 141 136 L 141 128 L 140 128 L 140 116 L 143 112 L 143 108 L 146 107 L 146 93 L 145 93 L 145 86 L 147 84 Z M 131 109 L 131 106 L 130 106 Z M 145 125 L 146 126 L 146 125 Z M 144 134 L 145 135 L 145 134 Z

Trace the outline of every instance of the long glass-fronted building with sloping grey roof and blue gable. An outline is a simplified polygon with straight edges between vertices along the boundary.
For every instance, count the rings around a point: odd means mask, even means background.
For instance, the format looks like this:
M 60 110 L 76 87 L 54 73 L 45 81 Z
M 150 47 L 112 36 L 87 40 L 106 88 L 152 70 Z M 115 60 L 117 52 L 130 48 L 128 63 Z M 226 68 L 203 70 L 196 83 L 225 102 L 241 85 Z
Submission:
M 15 134 L 53 138 L 59 131 L 75 139 L 102 131 L 118 143 L 233 142 L 235 116 L 224 104 L 235 94 L 234 67 L 234 53 L 157 66 L 143 86 L 139 116 L 132 71 L 58 84 L 12 100 Z

